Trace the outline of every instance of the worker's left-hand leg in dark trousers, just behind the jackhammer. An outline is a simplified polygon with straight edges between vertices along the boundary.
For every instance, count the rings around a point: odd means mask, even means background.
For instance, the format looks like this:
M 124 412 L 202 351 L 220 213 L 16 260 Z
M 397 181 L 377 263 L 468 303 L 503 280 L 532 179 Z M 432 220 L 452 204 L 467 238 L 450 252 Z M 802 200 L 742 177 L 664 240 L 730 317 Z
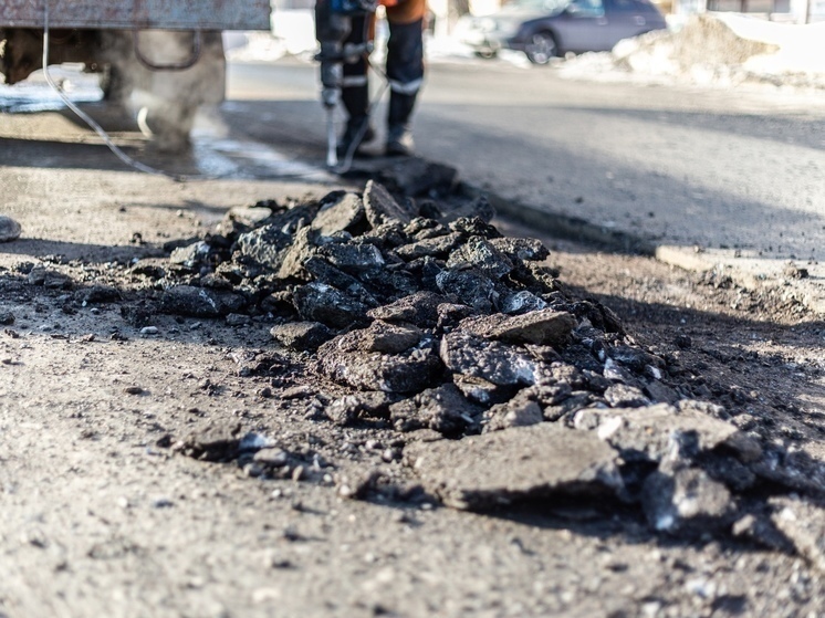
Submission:
M 369 28 L 365 17 L 352 19 L 352 31 L 346 43 L 359 45 L 364 43 Z M 375 138 L 375 132 L 369 126 L 369 83 L 367 81 L 367 61 L 365 57 L 349 64 L 344 63 L 344 81 L 341 88 L 341 101 L 346 109 L 346 129 L 338 140 L 338 156 L 346 156 L 351 150 L 355 153 L 362 143 Z

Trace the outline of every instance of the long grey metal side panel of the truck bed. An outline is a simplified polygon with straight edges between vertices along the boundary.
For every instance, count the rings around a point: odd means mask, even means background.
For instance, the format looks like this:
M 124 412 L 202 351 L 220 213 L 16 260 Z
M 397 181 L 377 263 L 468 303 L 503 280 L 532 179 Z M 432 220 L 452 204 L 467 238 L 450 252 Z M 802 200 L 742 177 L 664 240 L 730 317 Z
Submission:
M 270 0 L 2 0 L 0 28 L 269 30 Z

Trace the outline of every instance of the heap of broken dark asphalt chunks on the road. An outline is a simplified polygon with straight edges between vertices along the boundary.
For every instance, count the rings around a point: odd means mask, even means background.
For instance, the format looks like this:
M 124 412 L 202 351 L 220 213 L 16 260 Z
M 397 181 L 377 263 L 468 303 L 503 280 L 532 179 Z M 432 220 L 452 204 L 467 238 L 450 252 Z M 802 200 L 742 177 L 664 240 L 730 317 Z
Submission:
M 342 450 L 299 451 L 239 422 L 160 447 L 353 499 L 622 512 L 656 533 L 733 534 L 825 566 L 810 530 L 825 470 L 697 398 L 678 359 L 576 297 L 547 249 L 502 235 L 493 214 L 483 198 L 410 199 L 370 181 L 234 209 L 167 258 L 129 264 L 130 292 L 25 274 L 76 287 L 83 306 L 122 301 L 137 327 L 158 312 L 267 324 L 271 344 L 234 358 L 265 378 L 272 413 L 357 429 L 382 455 L 345 474 Z

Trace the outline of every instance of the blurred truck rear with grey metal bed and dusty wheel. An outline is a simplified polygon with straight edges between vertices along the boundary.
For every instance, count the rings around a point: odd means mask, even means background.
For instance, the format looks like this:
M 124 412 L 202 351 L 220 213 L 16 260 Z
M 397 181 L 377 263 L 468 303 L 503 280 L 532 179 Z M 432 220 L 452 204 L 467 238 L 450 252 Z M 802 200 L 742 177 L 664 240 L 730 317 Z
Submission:
M 100 73 L 104 98 L 176 151 L 198 107 L 223 101 L 222 32 L 269 31 L 270 14 L 270 0 L 3 0 L 0 73 L 9 85 L 25 80 L 48 44 L 49 65 Z

